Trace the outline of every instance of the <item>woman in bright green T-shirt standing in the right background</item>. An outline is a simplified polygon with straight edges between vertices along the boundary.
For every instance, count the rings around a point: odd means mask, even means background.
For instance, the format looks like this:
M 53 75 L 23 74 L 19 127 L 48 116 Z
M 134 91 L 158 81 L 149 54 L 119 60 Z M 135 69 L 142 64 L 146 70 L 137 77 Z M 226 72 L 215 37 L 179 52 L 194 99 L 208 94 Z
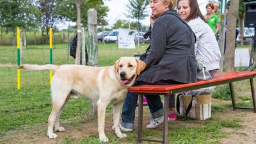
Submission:
M 218 31 L 220 29 L 220 19 L 217 15 L 213 13 L 214 6 L 212 3 L 209 3 L 205 6 L 207 15 L 205 16 L 205 19 L 207 20 L 209 26 L 211 27 L 214 35 L 216 36 L 216 40 L 219 40 Z

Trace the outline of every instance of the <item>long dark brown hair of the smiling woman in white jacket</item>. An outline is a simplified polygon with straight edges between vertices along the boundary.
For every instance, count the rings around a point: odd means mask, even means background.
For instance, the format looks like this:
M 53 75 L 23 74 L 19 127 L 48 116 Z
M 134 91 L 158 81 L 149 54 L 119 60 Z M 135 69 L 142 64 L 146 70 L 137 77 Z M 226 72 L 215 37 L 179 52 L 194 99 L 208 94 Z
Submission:
M 179 6 L 179 2 L 184 0 L 178 0 L 177 6 Z M 186 19 L 186 21 L 196 19 L 196 17 L 200 17 L 202 20 L 204 20 L 205 23 L 207 23 L 207 20 L 204 19 L 204 15 L 201 13 L 197 0 L 188 0 L 189 6 L 190 6 L 190 13 Z

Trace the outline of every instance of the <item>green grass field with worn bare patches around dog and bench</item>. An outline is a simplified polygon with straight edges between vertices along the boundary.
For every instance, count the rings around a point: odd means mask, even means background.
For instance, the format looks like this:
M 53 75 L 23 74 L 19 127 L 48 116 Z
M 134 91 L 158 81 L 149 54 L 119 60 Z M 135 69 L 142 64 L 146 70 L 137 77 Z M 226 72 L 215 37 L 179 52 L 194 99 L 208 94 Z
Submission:
M 113 65 L 120 56 L 133 56 L 138 49 L 117 49 L 116 44 L 99 44 L 99 66 Z M 145 51 L 147 44 L 141 45 L 139 52 Z M 17 54 L 15 47 L 0 46 L 0 143 L 99 143 L 97 118 L 88 117 L 88 99 L 70 99 L 63 109 L 60 123 L 68 127 L 65 132 L 58 132 L 56 140 L 46 136 L 47 118 L 51 113 L 51 92 L 49 72 L 27 72 L 21 70 L 21 89 L 17 90 Z M 67 44 L 56 44 L 53 49 L 53 63 L 74 63 L 68 56 Z M 48 45 L 31 45 L 23 50 L 23 62 L 33 64 L 49 63 Z M 252 106 L 250 83 L 235 83 L 238 106 Z M 219 92 L 221 95 L 222 92 Z M 216 94 L 217 95 L 217 94 Z M 250 102 L 247 102 L 247 101 Z M 106 115 L 106 134 L 109 143 L 136 143 L 136 131 L 129 132 L 125 139 L 116 138 L 111 126 L 112 107 L 108 106 Z M 231 116 L 226 117 L 228 113 Z M 225 129 L 239 131 L 244 129 L 242 115 L 250 111 L 232 112 L 230 101 L 213 99 L 212 117 L 208 120 L 181 118 L 171 122 L 168 140 L 170 143 L 223 143 L 228 138 Z M 224 115 L 224 116 L 223 116 Z M 144 126 L 149 122 L 148 108 L 145 108 Z M 82 128 L 81 128 L 82 127 Z M 90 129 L 87 129 L 90 127 Z M 162 129 L 143 129 L 146 138 L 161 139 Z M 80 134 L 82 133 L 82 134 Z M 32 135 L 32 138 L 31 138 Z

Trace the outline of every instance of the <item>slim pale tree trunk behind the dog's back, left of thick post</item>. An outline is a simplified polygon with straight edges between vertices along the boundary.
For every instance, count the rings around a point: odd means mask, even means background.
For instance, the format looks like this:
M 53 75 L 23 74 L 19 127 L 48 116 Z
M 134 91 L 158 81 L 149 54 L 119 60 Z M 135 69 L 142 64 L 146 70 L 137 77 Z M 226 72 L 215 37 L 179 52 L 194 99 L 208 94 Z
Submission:
M 76 65 L 81 64 L 81 0 L 76 0 L 77 10 L 77 45 L 76 45 Z

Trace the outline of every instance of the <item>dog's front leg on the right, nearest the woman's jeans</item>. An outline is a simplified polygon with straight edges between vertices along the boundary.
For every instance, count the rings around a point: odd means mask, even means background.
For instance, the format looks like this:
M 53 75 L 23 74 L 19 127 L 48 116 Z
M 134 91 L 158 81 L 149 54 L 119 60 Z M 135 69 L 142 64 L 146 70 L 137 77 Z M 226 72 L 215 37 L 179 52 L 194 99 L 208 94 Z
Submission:
M 113 104 L 113 120 L 114 120 L 114 127 L 115 127 L 115 133 L 118 138 L 125 138 L 127 134 L 123 134 L 120 131 L 120 112 L 122 108 L 123 102 L 118 102 L 116 104 Z

